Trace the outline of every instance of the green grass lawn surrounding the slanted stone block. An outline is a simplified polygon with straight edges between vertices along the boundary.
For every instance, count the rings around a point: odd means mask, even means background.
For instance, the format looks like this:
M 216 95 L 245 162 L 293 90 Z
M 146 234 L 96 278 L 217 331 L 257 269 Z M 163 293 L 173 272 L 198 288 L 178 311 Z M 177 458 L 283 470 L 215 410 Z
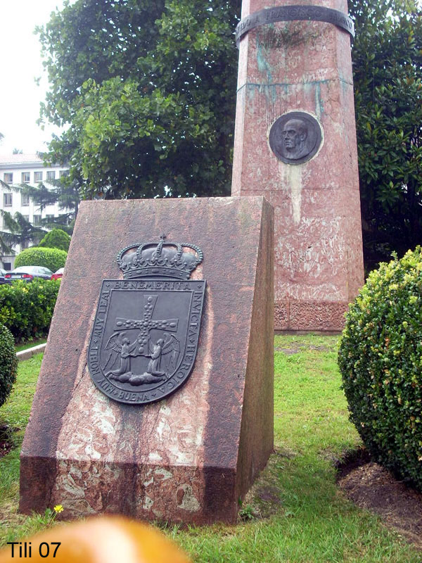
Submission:
M 357 448 L 340 390 L 334 336 L 276 336 L 275 453 L 241 507 L 236 526 L 166 529 L 194 562 L 421 563 L 421 553 L 355 507 L 335 484 L 335 460 Z M 18 514 L 19 447 L 41 355 L 20 362 L 0 417 L 20 430 L 0 460 L 0 545 L 46 526 Z

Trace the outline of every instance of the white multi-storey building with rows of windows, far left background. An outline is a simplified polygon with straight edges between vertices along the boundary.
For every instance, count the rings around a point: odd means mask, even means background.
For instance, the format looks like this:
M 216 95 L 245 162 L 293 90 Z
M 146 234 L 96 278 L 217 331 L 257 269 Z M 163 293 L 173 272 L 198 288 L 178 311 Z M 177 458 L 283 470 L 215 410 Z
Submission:
M 42 159 L 37 154 L 0 156 L 0 179 L 9 186 L 15 187 L 20 184 L 37 186 L 42 182 L 48 188 L 49 181 L 60 178 L 67 171 L 68 168 L 63 166 L 44 166 Z M 8 211 L 12 217 L 18 211 L 34 226 L 39 225 L 41 219 L 58 217 L 65 213 L 65 210 L 58 210 L 57 203 L 47 205 L 41 211 L 29 196 L 8 189 L 4 184 L 0 184 L 0 209 Z M 2 217 L 0 217 L 0 230 L 6 230 Z M 18 255 L 22 248 L 18 245 L 13 250 L 15 255 Z M 13 270 L 15 255 L 1 256 L 1 267 L 4 270 Z

